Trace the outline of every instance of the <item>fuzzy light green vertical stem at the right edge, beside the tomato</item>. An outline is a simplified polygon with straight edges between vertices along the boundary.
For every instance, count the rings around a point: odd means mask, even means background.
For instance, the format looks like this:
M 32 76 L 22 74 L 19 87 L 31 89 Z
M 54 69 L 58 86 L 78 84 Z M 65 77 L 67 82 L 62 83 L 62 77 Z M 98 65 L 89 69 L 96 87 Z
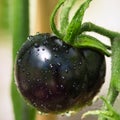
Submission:
M 107 101 L 113 105 L 119 92 L 120 92 L 120 36 L 115 37 L 111 41 L 112 44 L 112 73 L 111 73 L 111 82 L 107 94 Z M 106 106 L 103 106 L 102 110 L 107 109 Z M 104 117 L 100 116 L 99 120 L 107 120 Z

